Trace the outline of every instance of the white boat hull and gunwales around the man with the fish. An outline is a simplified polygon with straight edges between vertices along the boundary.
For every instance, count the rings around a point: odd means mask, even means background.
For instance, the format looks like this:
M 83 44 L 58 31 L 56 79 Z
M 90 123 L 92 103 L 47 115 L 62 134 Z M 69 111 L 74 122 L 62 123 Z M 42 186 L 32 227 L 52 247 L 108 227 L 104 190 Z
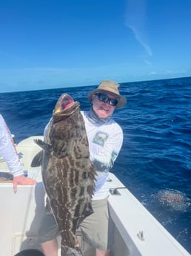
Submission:
M 38 181 L 36 186 L 19 186 L 15 194 L 12 183 L 0 183 L 1 256 L 14 256 L 24 249 L 38 249 L 38 226 L 44 210 L 44 188 L 41 169 L 30 168 L 33 157 L 41 150 L 30 137 L 17 145 L 21 163 L 28 175 Z M 7 171 L 1 161 L 0 170 Z M 107 181 L 109 188 L 124 187 L 114 174 Z M 190 255 L 172 235 L 158 223 L 127 188 L 109 197 L 110 214 L 115 226 L 113 256 L 188 256 Z M 81 237 L 81 234 L 78 234 Z M 93 249 L 82 242 L 84 256 L 93 256 Z

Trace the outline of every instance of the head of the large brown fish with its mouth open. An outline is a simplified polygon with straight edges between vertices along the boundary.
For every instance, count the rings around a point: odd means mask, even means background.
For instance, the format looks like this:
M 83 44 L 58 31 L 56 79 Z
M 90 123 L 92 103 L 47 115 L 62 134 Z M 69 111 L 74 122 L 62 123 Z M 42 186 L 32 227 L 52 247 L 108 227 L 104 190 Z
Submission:
M 81 151 L 87 147 L 87 134 L 85 131 L 84 119 L 81 115 L 79 102 L 63 93 L 53 111 L 53 116 L 47 129 L 47 142 L 52 145 L 55 152 L 61 156 L 70 154 L 78 138 Z

